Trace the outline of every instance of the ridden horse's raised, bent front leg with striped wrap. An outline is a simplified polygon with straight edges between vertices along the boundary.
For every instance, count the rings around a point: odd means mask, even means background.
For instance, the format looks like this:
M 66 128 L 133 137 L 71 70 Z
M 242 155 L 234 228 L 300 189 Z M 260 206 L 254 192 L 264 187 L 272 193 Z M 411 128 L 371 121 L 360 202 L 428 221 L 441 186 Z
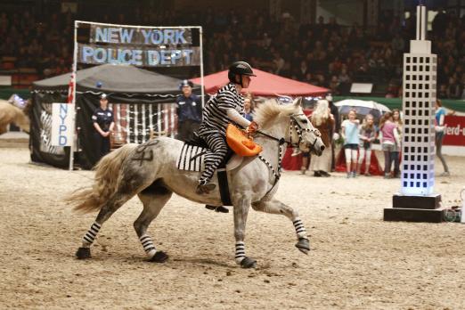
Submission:
M 296 229 L 296 234 L 298 238 L 296 247 L 302 253 L 308 254 L 308 251 L 310 250 L 310 242 L 308 241 L 308 237 L 306 235 L 306 227 L 302 223 L 302 220 L 298 217 L 298 211 L 283 204 L 279 200 L 254 202 L 252 204 L 252 208 L 254 208 L 254 210 L 257 211 L 262 211 L 271 214 L 281 214 L 288 217 L 292 221 L 292 224 L 294 224 L 294 228 Z

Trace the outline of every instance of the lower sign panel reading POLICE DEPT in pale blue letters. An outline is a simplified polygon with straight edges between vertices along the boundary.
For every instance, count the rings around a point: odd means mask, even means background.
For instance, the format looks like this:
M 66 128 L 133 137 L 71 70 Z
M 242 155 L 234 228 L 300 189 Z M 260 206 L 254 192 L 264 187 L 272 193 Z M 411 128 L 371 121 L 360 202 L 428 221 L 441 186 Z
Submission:
M 147 46 L 78 45 L 78 62 L 116 63 L 142 67 L 199 66 L 200 47 L 162 48 Z

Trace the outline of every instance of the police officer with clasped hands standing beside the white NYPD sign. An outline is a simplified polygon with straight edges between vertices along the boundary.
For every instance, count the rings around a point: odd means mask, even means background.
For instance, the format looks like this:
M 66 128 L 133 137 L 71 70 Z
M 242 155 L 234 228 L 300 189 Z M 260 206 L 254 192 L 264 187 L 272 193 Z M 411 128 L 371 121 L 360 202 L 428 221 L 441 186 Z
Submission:
M 92 121 L 95 128 L 95 153 L 98 159 L 101 159 L 110 152 L 110 135 L 115 126 L 113 112 L 108 108 L 108 98 L 106 94 L 100 95 L 100 107 L 94 110 Z

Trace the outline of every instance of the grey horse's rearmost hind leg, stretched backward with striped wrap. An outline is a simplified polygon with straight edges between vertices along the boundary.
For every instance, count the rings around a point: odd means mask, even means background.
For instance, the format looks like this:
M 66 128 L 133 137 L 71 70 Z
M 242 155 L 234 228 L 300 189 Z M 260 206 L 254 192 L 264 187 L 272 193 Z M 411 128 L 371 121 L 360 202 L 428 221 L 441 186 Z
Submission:
M 90 229 L 86 232 L 82 238 L 82 247 L 77 249 L 76 257 L 78 259 L 90 258 L 90 247 L 94 243 L 97 233 L 102 228 L 102 224 L 107 221 L 110 216 L 115 213 L 127 200 L 130 200 L 134 196 L 133 193 L 116 193 L 100 210 L 99 214 L 95 218 L 94 224 L 91 225 Z

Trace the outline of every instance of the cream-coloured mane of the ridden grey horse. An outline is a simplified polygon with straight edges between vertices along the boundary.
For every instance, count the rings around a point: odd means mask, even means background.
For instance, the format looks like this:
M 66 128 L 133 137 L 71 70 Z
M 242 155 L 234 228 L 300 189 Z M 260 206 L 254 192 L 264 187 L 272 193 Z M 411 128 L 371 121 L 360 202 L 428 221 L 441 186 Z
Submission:
M 279 116 L 290 115 L 298 111 L 298 106 L 290 104 L 279 104 L 276 99 L 267 99 L 258 105 L 255 110 L 254 120 L 257 124 L 266 129 L 273 126 L 274 121 Z

